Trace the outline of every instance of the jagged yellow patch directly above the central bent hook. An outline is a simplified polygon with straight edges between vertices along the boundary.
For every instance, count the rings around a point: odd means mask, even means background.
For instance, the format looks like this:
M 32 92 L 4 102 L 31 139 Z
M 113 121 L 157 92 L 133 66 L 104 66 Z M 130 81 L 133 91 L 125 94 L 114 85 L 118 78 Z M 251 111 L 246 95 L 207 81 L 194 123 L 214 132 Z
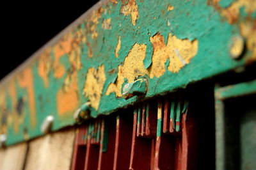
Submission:
M 130 50 L 129 54 L 124 60 L 124 65 L 118 66 L 118 77 L 115 84 L 109 84 L 106 95 L 112 92 L 116 93 L 116 97 L 122 97 L 121 88 L 124 79 L 127 78 L 128 82 L 134 81 L 140 75 L 147 74 L 144 67 L 143 59 L 145 59 L 147 45 L 135 43 Z

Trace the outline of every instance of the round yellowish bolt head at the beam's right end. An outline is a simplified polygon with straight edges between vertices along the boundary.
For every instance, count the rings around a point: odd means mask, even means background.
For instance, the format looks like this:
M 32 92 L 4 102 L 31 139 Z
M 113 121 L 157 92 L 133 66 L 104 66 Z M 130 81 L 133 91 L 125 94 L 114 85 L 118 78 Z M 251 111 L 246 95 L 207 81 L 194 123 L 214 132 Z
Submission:
M 241 35 L 232 36 L 230 43 L 230 56 L 233 59 L 238 59 L 244 50 L 244 38 Z

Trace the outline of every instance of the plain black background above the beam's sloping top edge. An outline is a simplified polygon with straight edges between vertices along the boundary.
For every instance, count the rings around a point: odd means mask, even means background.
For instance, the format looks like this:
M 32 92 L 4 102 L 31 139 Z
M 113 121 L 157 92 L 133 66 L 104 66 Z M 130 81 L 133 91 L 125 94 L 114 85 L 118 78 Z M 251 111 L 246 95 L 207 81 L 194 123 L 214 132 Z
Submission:
M 1 4 L 0 81 L 98 1 Z

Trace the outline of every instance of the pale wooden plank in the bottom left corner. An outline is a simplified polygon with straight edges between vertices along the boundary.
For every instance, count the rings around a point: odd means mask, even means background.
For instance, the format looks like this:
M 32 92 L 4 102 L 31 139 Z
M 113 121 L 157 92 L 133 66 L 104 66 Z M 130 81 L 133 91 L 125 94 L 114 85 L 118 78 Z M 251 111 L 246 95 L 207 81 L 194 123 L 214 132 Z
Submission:
M 0 150 L 1 170 L 22 170 L 28 144 L 20 143 Z M 14 163 L 15 162 L 15 163 Z

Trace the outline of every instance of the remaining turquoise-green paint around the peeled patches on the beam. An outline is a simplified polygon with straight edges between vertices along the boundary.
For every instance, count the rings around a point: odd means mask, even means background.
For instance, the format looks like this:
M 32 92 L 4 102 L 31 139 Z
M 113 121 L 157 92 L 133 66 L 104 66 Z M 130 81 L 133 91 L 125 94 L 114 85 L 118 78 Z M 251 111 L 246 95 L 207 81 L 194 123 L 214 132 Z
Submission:
M 222 1 L 221 1 L 222 2 Z M 92 21 L 85 19 L 78 26 L 72 29 L 72 35 L 76 35 L 76 31 L 82 30 L 83 36 L 90 42 L 93 57 L 88 57 L 88 46 L 86 43 L 79 42 L 79 51 L 81 52 L 81 70 L 77 70 L 77 94 L 79 105 L 88 102 L 89 98 L 84 98 L 83 88 L 86 80 L 86 73 L 90 67 L 97 69 L 104 64 L 106 81 L 102 89 L 102 97 L 100 98 L 99 109 L 91 109 L 92 117 L 100 114 L 109 114 L 122 107 L 134 105 L 141 101 L 139 97 L 132 97 L 128 100 L 124 98 L 116 98 L 115 93 L 105 95 L 111 82 L 116 81 L 118 66 L 123 65 L 124 59 L 129 54 L 134 43 L 147 45 L 146 57 L 143 61 L 145 68 L 152 65 L 152 43 L 150 37 L 160 33 L 164 36 L 164 42 L 168 40 L 168 34 L 177 36 L 180 39 L 198 40 L 198 52 L 191 59 L 191 63 L 184 66 L 179 73 L 172 73 L 166 70 L 163 76 L 148 79 L 148 91 L 143 99 L 152 98 L 156 95 L 164 95 L 166 93 L 177 90 L 177 88 L 186 88 L 191 82 L 201 81 L 223 72 L 227 72 L 236 66 L 244 65 L 245 61 L 235 61 L 229 56 L 229 42 L 233 35 L 239 35 L 239 27 L 234 24 L 228 24 L 227 20 L 221 17 L 220 13 L 213 6 L 207 4 L 204 0 L 195 1 L 136 1 L 138 4 L 139 17 L 136 26 L 132 25 L 131 16 L 124 16 L 120 13 L 122 2 L 118 4 L 103 5 L 103 10 L 110 11 L 101 14 L 99 24 L 96 27 L 98 33 L 97 39 L 91 38 L 86 24 Z M 168 4 L 174 9 L 167 11 Z M 225 3 L 224 6 L 227 6 Z M 152 10 L 154 9 L 154 10 Z M 164 11 L 164 12 L 163 12 Z M 243 15 L 243 14 L 241 14 Z M 252 16 L 255 15 L 255 12 Z M 104 19 L 111 18 L 111 30 L 102 29 Z M 241 18 L 243 19 L 243 17 Z M 168 23 L 170 25 L 168 26 Z M 139 28 L 140 26 L 140 28 Z M 121 47 L 118 52 L 118 58 L 115 58 L 115 48 L 118 38 L 121 39 Z M 252 54 L 248 51 L 245 55 Z M 65 77 L 68 75 L 72 66 L 65 54 L 60 58 L 60 63 L 65 66 L 65 75 L 60 79 L 53 76 L 53 70 L 48 75 L 49 88 L 44 87 L 42 78 L 38 75 L 38 60 L 31 63 L 33 70 L 33 85 L 35 86 L 35 104 L 36 104 L 36 127 L 30 125 L 30 112 L 28 101 L 25 102 L 24 108 L 26 116 L 24 125 L 20 125 L 19 129 L 27 127 L 29 137 L 37 137 L 42 135 L 40 125 L 44 118 L 52 114 L 54 116 L 54 124 L 52 130 L 58 130 L 67 125 L 74 124 L 74 111 L 67 112 L 65 116 L 60 116 L 56 107 L 56 93 L 62 88 Z M 51 59 L 54 61 L 54 52 L 52 50 Z M 166 67 L 170 60 L 166 61 Z M 114 71 L 113 71 L 114 70 Z M 113 71 L 113 72 L 111 72 Z M 14 79 L 14 78 L 13 78 Z M 53 83 L 54 82 L 54 83 Z M 17 88 L 20 96 L 26 96 L 24 89 Z M 11 113 L 10 113 L 11 114 Z M 174 116 L 173 116 L 173 120 Z M 21 132 L 21 131 L 20 131 Z M 7 144 L 14 144 L 23 141 L 22 134 L 14 134 L 11 125 L 8 126 Z

